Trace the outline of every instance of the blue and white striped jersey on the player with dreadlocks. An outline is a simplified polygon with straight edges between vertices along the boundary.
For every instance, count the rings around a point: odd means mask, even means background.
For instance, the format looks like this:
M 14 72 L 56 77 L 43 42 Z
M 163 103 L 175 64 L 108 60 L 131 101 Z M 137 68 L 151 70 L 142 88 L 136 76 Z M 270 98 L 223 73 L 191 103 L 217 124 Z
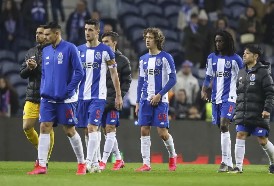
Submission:
M 236 102 L 236 81 L 239 70 L 244 68 L 242 58 L 212 53 L 207 58 L 206 75 L 213 76 L 212 102 Z

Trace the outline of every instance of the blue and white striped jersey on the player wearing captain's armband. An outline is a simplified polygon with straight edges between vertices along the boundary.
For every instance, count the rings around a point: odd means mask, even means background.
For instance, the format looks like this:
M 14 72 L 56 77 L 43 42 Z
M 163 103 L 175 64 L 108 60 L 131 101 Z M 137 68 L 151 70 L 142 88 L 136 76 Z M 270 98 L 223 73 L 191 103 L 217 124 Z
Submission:
M 87 47 L 86 44 L 77 48 L 84 69 L 84 77 L 77 90 L 78 99 L 106 99 L 107 67 L 117 66 L 113 50 L 103 43 L 93 48 Z

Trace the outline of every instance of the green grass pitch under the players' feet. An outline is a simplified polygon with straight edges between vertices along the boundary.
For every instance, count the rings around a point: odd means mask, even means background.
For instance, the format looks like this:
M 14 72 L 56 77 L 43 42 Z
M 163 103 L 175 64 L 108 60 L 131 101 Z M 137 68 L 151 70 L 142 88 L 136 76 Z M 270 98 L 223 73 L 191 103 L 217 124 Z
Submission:
M 173 185 L 274 185 L 274 174 L 267 165 L 246 165 L 243 174 L 217 173 L 219 165 L 178 164 L 168 171 L 168 164 L 152 164 L 152 171 L 135 172 L 142 163 L 125 163 L 125 168 L 76 176 L 77 163 L 50 162 L 48 175 L 26 175 L 33 162 L 0 162 L 1 186 L 173 186 Z

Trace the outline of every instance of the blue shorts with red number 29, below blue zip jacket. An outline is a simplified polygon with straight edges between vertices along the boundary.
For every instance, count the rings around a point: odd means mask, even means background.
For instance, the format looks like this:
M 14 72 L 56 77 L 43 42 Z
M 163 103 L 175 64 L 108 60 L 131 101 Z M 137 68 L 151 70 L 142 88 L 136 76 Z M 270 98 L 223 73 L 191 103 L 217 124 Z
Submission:
M 41 100 L 39 111 L 39 123 L 54 122 L 53 127 L 58 123 L 63 125 L 75 125 L 76 102 L 72 103 L 51 103 Z

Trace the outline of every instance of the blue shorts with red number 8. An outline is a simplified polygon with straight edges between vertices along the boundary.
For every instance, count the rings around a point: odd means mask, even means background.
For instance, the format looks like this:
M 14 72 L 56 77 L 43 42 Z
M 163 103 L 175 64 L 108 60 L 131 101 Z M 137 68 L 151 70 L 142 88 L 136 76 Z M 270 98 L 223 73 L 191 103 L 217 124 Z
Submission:
M 221 123 L 221 117 L 230 119 L 233 121 L 234 115 L 234 102 L 224 102 L 220 104 L 212 105 L 212 123 L 218 125 Z

